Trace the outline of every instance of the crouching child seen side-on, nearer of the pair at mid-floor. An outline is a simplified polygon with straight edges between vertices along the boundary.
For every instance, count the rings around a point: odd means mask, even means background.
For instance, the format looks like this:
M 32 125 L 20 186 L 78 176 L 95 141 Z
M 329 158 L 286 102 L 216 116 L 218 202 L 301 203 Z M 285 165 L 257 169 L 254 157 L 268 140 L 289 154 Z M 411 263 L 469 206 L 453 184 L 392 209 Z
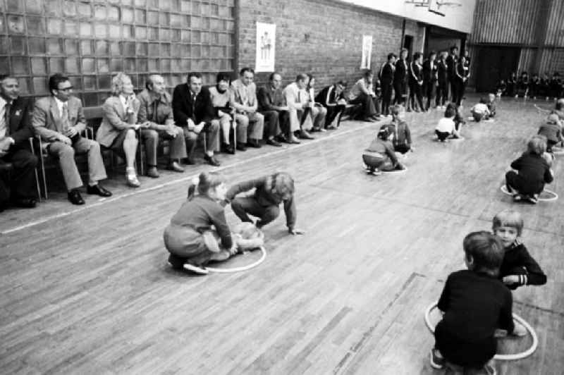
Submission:
M 393 133 L 388 130 L 388 125 L 382 125 L 376 138 L 370 143 L 362 154 L 362 161 L 367 166 L 369 173 L 378 173 L 379 171 L 402 171 L 405 169 L 396 152 L 393 151 L 392 145 Z

